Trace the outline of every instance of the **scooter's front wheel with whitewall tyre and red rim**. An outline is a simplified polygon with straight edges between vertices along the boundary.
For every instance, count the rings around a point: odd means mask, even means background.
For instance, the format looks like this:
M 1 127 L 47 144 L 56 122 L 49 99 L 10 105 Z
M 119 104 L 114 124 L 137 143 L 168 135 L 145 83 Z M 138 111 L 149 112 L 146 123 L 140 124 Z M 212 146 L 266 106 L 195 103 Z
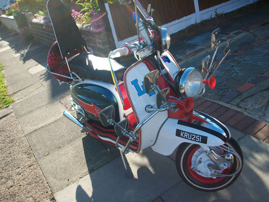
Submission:
M 243 154 L 238 143 L 231 138 L 224 147 L 210 147 L 219 155 L 226 153 L 225 147 L 229 147 L 238 155 L 234 156 L 230 168 L 214 170 L 208 165 L 214 162 L 206 155 L 206 152 L 197 144 L 182 143 L 176 156 L 176 166 L 181 179 L 189 186 L 206 192 L 218 191 L 231 185 L 240 175 L 243 166 Z M 239 159 L 240 158 L 240 159 Z M 198 163 L 199 162 L 199 163 Z M 213 173 L 220 175 L 235 175 L 227 177 L 212 177 Z

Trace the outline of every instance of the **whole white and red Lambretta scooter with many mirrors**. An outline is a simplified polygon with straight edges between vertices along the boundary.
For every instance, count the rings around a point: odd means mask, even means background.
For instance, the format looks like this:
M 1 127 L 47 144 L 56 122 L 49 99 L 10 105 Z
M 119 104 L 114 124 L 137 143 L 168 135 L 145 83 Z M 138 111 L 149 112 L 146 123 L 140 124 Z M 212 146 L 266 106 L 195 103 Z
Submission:
M 215 87 L 213 75 L 229 54 L 231 41 L 223 59 L 214 63 L 220 29 L 213 31 L 211 48 L 216 50 L 211 62 L 207 56 L 201 71 L 181 69 L 168 51 L 168 30 L 156 25 L 151 6 L 146 11 L 134 0 L 134 8 L 138 40 L 100 58 L 87 47 L 63 1 L 47 1 L 57 39 L 48 53 L 47 71 L 70 85 L 77 118 L 67 111 L 64 115 L 82 133 L 115 145 L 127 171 L 124 155 L 128 152 L 152 147 L 168 156 L 177 150 L 177 170 L 188 185 L 202 191 L 224 189 L 240 175 L 242 151 L 224 124 L 193 109 L 193 98 L 204 93 L 205 85 Z M 137 60 L 131 67 L 113 59 L 130 53 Z

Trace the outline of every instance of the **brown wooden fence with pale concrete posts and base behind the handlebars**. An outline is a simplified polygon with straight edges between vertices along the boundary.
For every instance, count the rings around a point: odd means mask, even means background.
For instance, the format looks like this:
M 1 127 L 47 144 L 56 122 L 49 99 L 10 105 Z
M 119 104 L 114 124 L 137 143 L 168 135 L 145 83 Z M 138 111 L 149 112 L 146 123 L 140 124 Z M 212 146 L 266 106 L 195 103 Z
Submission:
M 154 21 L 158 26 L 167 27 L 175 33 L 190 24 L 226 13 L 257 0 L 139 0 L 146 9 L 148 4 L 155 9 Z M 134 3 L 121 5 L 119 2 L 105 4 L 116 47 L 123 42 L 134 42 L 137 34 L 132 19 Z

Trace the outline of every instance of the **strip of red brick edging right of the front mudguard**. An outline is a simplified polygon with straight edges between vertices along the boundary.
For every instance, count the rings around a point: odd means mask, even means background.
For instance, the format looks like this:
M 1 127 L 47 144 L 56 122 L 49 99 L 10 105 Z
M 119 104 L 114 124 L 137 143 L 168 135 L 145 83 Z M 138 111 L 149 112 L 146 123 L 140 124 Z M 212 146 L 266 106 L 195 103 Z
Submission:
M 269 125 L 266 123 L 204 98 L 198 98 L 194 103 L 195 110 L 207 113 L 225 125 L 269 143 Z

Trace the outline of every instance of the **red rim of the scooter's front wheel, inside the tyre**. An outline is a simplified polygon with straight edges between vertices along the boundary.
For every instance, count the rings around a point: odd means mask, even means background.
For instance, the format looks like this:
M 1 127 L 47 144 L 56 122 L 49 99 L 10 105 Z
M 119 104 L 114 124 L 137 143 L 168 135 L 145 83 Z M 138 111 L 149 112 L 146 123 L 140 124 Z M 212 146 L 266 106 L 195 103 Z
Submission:
M 206 178 L 206 177 L 203 177 L 201 175 L 199 175 L 198 173 L 196 173 L 195 171 L 193 171 L 190 167 L 192 165 L 192 157 L 194 155 L 194 153 L 200 148 L 200 146 L 198 145 L 197 147 L 193 148 L 193 150 L 189 153 L 189 156 L 187 157 L 187 170 L 190 174 L 190 176 L 194 179 L 194 180 L 197 180 L 201 183 L 204 183 L 204 184 L 215 184 L 215 183 L 219 183 L 221 182 L 222 180 L 225 179 L 225 177 L 217 177 L 216 179 L 214 178 Z M 222 174 L 229 174 L 231 171 L 231 168 L 229 169 L 225 169 Z

